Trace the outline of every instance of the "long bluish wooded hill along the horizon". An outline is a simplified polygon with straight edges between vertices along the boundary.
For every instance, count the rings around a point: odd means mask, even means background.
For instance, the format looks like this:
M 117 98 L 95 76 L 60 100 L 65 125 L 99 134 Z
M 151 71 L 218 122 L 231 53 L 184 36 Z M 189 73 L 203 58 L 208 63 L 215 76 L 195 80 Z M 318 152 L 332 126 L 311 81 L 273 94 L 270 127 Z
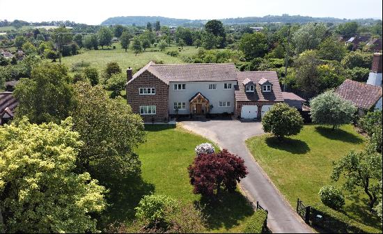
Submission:
M 136 25 L 146 26 L 148 22 L 156 22 L 159 20 L 162 25 L 167 26 L 183 26 L 183 25 L 202 25 L 208 20 L 187 20 L 187 19 L 175 19 L 161 16 L 118 16 L 110 17 L 101 23 L 101 25 Z M 374 21 L 373 19 L 364 20 L 353 20 L 353 21 Z M 266 15 L 263 17 L 237 17 L 228 18 L 221 20 L 224 24 L 253 24 L 253 23 L 275 23 L 275 22 L 286 22 L 286 23 L 306 23 L 306 22 L 347 22 L 347 19 L 338 19 L 334 17 L 309 17 L 302 15 Z

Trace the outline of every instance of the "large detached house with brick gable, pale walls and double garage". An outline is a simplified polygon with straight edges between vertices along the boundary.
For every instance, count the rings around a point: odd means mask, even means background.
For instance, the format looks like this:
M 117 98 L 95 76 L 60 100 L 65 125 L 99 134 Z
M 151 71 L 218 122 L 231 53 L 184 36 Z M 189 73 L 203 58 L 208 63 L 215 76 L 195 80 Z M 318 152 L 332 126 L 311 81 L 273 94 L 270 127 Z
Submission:
M 283 102 L 276 72 L 237 72 L 234 63 L 148 63 L 127 69 L 127 102 L 148 122 L 169 117 L 233 114 L 262 118 Z

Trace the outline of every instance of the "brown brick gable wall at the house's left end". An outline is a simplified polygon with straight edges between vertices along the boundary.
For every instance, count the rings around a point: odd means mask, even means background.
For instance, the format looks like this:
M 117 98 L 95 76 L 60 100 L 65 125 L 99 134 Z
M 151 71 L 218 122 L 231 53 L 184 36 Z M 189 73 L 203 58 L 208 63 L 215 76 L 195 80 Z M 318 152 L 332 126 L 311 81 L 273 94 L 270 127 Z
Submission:
M 141 115 L 143 121 L 150 123 L 169 121 L 168 85 L 150 72 L 145 71 L 126 86 L 127 103 L 134 113 L 140 113 L 140 106 L 155 106 L 155 115 Z M 155 95 L 140 95 L 139 88 L 155 88 Z

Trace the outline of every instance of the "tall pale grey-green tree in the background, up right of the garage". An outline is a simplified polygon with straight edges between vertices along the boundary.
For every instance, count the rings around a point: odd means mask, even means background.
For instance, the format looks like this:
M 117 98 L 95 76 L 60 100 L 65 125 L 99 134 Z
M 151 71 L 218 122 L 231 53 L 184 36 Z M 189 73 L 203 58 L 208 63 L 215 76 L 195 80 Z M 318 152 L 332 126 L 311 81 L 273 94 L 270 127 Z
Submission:
M 316 49 L 320 42 L 326 38 L 327 33 L 328 29 L 324 23 L 304 24 L 292 36 L 295 52 L 301 54 L 307 49 Z

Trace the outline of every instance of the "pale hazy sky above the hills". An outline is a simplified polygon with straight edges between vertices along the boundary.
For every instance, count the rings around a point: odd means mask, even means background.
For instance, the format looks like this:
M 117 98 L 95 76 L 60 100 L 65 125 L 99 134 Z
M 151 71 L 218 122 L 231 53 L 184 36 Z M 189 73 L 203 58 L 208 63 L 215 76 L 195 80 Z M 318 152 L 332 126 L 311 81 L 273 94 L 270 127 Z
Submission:
M 85 24 L 134 15 L 190 20 L 282 14 L 382 19 L 382 0 L 0 0 L 0 12 L 0 20 L 70 20 Z

